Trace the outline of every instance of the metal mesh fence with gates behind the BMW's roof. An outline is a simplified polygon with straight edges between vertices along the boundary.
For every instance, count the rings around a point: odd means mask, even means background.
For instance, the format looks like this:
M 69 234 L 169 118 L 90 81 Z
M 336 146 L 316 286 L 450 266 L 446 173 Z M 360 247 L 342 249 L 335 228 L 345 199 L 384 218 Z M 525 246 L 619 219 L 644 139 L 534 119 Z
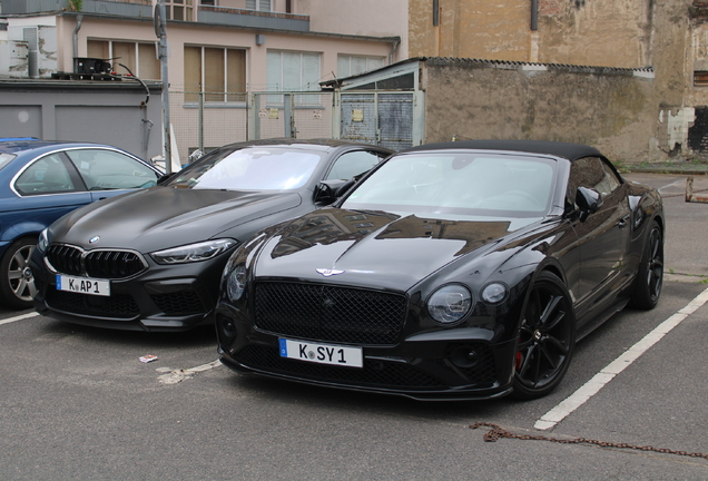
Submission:
M 413 92 L 169 92 L 181 164 L 199 149 L 275 137 L 342 138 L 400 150 L 415 141 Z

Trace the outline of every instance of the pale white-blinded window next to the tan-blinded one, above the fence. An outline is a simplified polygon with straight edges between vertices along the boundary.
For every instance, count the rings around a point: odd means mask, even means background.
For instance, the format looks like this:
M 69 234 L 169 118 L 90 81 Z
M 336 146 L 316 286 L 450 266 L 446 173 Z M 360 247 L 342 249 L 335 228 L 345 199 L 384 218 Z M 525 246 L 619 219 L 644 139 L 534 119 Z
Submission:
M 268 50 L 266 77 L 269 91 L 318 91 L 319 53 Z M 268 102 L 283 104 L 283 96 L 268 96 Z M 297 104 L 318 102 L 318 96 L 297 97 Z

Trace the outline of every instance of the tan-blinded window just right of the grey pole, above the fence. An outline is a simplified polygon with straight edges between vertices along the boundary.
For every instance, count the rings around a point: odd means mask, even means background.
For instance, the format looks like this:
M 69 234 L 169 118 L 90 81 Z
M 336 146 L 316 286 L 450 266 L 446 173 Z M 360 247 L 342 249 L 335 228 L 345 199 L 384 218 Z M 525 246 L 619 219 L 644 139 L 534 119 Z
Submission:
M 246 100 L 246 50 L 185 46 L 185 102 Z

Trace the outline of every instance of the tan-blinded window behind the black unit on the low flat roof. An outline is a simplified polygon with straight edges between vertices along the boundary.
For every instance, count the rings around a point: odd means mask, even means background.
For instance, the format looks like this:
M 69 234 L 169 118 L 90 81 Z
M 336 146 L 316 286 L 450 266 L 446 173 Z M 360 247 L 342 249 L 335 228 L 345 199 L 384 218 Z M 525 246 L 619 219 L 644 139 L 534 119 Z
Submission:
M 125 40 L 88 40 L 87 57 L 110 62 L 117 73 L 132 73 L 144 80 L 161 78 L 160 62 L 154 42 Z

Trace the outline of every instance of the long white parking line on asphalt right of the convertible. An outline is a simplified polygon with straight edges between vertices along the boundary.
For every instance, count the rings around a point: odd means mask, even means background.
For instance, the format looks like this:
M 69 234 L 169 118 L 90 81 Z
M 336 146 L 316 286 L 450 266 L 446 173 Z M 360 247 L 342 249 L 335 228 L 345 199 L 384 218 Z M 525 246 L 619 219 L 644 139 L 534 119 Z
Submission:
M 637 344 L 625 351 L 622 355 L 604 366 L 602 371 L 596 374 L 590 381 L 584 383 L 578 391 L 567 397 L 563 402 L 555 408 L 543 414 L 540 420 L 535 422 L 533 428 L 538 430 L 549 430 L 570 413 L 576 411 L 590 397 L 597 394 L 607 383 L 612 381 L 616 375 L 625 371 L 632 362 L 649 350 L 652 345 L 658 343 L 661 337 L 668 334 L 673 327 L 679 325 L 681 321 L 696 312 L 708 301 L 708 288 L 700 293 L 696 298 L 689 302 L 686 307 L 663 321 L 653 331 L 647 334 Z

